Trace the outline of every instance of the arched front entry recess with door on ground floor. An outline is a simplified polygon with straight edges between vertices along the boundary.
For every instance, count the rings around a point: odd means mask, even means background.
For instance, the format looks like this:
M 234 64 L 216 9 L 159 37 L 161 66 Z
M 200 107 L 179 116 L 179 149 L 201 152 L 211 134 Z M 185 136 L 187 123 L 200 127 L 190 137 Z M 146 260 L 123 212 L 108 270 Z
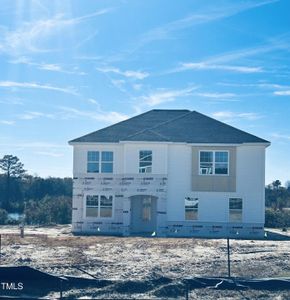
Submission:
M 136 195 L 131 200 L 131 233 L 152 234 L 156 231 L 157 197 Z

